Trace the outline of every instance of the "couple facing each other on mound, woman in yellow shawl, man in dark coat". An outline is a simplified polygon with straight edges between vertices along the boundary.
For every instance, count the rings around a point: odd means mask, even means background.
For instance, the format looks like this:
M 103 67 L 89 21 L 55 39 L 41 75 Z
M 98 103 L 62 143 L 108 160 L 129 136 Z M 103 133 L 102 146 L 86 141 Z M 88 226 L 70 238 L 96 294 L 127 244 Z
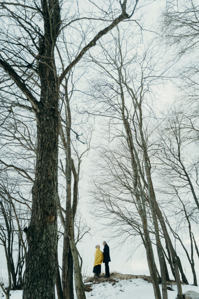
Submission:
M 96 245 L 95 248 L 95 260 L 94 260 L 94 268 L 93 268 L 93 277 L 100 277 L 101 273 L 101 264 L 102 262 L 105 263 L 105 271 L 106 274 L 104 275 L 105 278 L 110 277 L 109 273 L 109 262 L 110 254 L 109 254 L 109 246 L 106 241 L 102 243 L 104 245 L 104 252 L 100 250 L 100 245 Z

